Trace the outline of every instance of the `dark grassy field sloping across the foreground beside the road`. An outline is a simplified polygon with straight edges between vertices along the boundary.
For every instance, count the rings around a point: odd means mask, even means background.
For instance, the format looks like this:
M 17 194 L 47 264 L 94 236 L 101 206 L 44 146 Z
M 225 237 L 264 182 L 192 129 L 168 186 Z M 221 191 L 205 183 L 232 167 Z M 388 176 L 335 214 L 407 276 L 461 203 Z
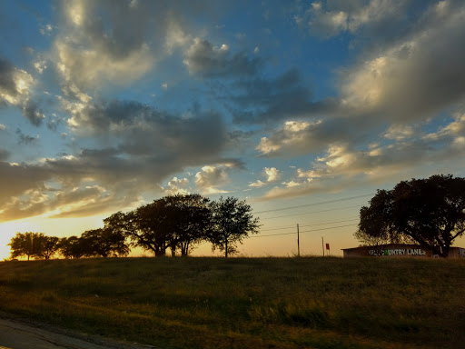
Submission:
M 0 263 L 0 310 L 161 348 L 463 348 L 465 260 Z

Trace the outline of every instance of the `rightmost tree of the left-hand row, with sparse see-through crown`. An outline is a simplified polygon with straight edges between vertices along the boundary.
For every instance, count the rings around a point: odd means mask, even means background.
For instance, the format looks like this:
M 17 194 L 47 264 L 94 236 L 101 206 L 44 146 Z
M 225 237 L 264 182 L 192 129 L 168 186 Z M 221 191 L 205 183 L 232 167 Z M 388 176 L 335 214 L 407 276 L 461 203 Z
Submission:
M 253 218 L 252 208 L 245 201 L 239 201 L 235 197 L 220 197 L 218 201 L 213 201 L 212 223 L 213 231 L 209 240 L 213 245 L 213 250 L 219 248 L 224 251 L 224 256 L 236 252 L 236 244 L 249 234 L 258 233 L 260 227 L 259 219 Z

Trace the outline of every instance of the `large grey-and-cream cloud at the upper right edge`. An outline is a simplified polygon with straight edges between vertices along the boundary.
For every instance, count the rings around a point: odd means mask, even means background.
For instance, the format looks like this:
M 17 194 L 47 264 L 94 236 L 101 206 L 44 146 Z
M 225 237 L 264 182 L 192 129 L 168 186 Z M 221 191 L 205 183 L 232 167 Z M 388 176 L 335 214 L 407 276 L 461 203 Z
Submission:
M 415 31 L 341 69 L 341 105 L 350 115 L 396 124 L 427 120 L 465 98 L 465 6 L 440 2 Z

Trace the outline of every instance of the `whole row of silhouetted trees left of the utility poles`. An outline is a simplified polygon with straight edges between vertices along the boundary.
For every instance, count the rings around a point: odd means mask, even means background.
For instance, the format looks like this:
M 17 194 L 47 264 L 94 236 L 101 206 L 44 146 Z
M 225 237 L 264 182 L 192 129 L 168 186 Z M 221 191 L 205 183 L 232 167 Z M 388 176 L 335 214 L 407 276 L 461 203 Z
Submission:
M 228 255 L 249 234 L 258 233 L 259 218 L 252 208 L 235 197 L 211 201 L 201 194 L 175 194 L 143 204 L 133 211 L 117 212 L 104 219 L 104 227 L 81 236 L 58 238 L 44 233 L 16 233 L 11 239 L 11 258 L 49 259 L 126 256 L 142 247 L 155 256 L 171 251 L 189 255 L 197 244 L 209 242 L 213 251 Z

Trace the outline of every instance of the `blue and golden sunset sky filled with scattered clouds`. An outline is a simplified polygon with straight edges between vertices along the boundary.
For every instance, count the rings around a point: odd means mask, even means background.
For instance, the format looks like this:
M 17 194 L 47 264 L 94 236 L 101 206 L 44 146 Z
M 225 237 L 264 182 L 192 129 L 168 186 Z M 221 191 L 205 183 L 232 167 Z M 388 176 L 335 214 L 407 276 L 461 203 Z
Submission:
M 461 0 L 3 0 L 0 34 L 0 258 L 187 193 L 252 206 L 242 255 L 341 255 L 377 189 L 465 176 Z

